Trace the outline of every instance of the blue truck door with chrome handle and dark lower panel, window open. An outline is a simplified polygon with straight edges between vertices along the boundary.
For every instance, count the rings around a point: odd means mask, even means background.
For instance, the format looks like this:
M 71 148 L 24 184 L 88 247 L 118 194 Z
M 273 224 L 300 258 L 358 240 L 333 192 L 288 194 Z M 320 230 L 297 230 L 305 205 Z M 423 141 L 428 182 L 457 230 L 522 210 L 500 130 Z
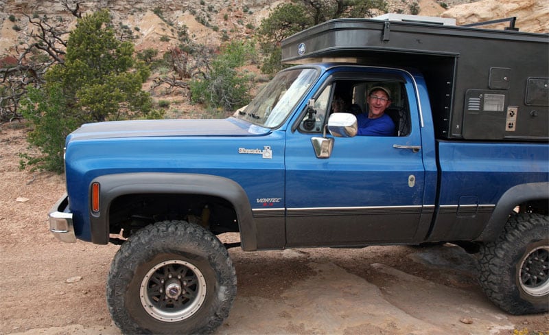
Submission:
M 393 91 L 393 102 L 385 113 L 402 113 L 395 119 L 395 134 L 338 137 L 331 157 L 317 158 L 311 138 L 322 136 L 332 101 L 347 99 L 347 111 L 353 106 L 352 113 L 367 113 L 365 95 L 373 86 Z M 421 215 L 425 179 L 419 119 L 417 112 L 410 115 L 410 106 L 416 110 L 412 87 L 404 78 L 384 80 L 347 73 L 332 77 L 313 96 L 316 113 L 304 111 L 296 121 L 299 126 L 286 135 L 288 246 L 412 240 Z M 406 122 L 404 127 L 401 121 Z M 399 128 L 404 130 L 399 133 Z

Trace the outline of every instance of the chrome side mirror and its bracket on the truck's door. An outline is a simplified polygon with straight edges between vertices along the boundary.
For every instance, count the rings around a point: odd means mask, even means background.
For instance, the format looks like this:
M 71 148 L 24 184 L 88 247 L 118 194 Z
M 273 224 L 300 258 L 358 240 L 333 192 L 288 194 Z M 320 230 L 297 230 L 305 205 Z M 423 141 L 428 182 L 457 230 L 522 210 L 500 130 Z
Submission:
M 334 138 L 326 137 L 326 130 L 334 137 L 354 137 L 358 131 L 356 117 L 350 113 L 330 115 L 328 124 L 324 126 L 323 137 L 311 138 L 316 158 L 329 158 L 334 149 Z

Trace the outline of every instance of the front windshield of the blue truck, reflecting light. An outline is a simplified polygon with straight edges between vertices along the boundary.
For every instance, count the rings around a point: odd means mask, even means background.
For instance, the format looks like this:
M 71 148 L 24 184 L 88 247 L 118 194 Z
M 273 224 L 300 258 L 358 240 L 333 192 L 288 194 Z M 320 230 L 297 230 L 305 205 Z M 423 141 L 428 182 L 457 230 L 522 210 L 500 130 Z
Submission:
M 266 128 L 280 126 L 317 76 L 316 69 L 282 71 L 243 111 L 237 113 L 237 117 Z

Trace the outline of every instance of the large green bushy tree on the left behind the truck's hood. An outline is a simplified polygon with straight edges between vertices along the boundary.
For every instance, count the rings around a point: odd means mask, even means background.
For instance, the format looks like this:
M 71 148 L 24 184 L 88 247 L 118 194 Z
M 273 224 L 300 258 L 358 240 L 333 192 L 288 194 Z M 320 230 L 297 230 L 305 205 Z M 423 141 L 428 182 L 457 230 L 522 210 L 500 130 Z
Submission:
M 87 122 L 159 118 L 141 90 L 150 70 L 133 57 L 133 45 L 119 41 L 107 10 L 78 20 L 69 34 L 63 65 L 50 67 L 40 89 L 30 87 L 21 102 L 32 124 L 27 141 L 41 154 L 23 154 L 22 166 L 63 171 L 65 137 Z

